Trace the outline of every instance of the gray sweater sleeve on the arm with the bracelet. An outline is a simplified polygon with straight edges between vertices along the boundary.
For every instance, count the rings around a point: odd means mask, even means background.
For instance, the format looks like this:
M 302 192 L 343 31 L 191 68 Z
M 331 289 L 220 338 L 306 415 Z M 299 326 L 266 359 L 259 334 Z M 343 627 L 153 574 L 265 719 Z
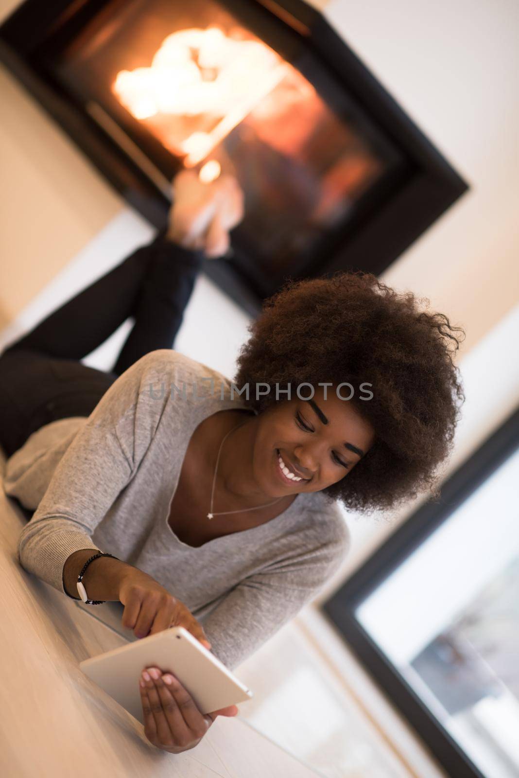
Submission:
M 155 432 L 162 403 L 150 403 L 144 388 L 152 359 L 153 352 L 146 354 L 103 394 L 19 535 L 23 568 L 64 594 L 64 563 L 82 548 L 104 550 L 90 536 L 133 478 Z

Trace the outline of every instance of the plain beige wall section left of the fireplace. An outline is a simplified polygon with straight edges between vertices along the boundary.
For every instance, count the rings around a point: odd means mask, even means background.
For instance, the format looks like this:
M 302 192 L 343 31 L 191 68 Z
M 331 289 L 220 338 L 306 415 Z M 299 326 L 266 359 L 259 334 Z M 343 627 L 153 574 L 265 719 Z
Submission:
M 16 5 L 0 0 L 0 22 Z M 3 66 L 0 100 L 1 329 L 123 203 Z

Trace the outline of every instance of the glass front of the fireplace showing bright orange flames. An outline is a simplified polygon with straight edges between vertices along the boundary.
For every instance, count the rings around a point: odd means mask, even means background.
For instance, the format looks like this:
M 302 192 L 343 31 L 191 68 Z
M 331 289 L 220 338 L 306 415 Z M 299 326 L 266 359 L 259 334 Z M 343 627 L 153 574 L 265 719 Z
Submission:
M 246 216 L 236 261 L 260 296 L 315 268 L 403 165 L 278 21 L 243 0 L 110 2 L 47 52 L 61 88 L 145 157 L 162 191 L 181 167 L 238 177 Z

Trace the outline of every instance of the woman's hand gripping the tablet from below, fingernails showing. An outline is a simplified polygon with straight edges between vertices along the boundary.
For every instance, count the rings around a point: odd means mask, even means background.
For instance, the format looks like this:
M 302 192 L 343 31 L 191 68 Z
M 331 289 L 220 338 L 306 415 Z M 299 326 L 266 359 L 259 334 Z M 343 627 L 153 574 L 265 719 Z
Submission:
M 238 708 L 201 713 L 190 693 L 172 673 L 146 668 L 139 681 L 145 735 L 152 745 L 171 754 L 200 743 L 217 716 L 235 716 Z

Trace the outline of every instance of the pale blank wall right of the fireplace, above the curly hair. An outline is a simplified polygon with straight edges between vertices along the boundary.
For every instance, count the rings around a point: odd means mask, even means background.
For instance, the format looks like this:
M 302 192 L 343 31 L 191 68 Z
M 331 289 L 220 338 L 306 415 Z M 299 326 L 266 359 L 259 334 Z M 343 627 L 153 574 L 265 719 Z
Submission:
M 383 274 L 466 328 L 519 300 L 517 0 L 334 0 L 326 16 L 472 191 Z

